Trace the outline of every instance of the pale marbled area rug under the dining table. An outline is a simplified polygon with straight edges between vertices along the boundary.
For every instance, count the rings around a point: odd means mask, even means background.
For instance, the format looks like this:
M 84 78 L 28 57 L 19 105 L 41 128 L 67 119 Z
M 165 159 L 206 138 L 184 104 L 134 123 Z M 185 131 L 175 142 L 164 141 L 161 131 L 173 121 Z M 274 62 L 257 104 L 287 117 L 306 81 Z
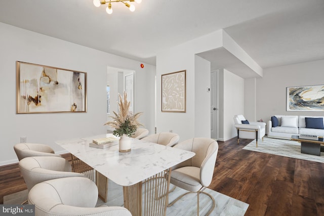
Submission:
M 170 185 L 170 188 L 173 188 Z M 211 215 L 244 215 L 247 211 L 249 204 L 241 202 L 237 199 L 231 198 L 224 194 L 218 193 L 211 189 L 206 188 L 205 192 L 210 193 L 215 199 L 215 209 Z M 179 195 L 185 193 L 185 190 L 176 188 L 173 192 L 169 194 L 169 201 L 175 200 Z M 4 197 L 4 204 L 20 204 L 27 197 L 27 190 L 17 192 Z M 123 187 L 115 184 L 109 180 L 108 183 L 108 202 L 104 203 L 98 198 L 97 206 L 106 204 L 108 206 L 124 206 L 123 198 Z M 200 215 L 206 215 L 212 206 L 211 198 L 205 194 L 200 194 L 199 197 L 199 209 Z M 197 197 L 196 194 L 189 194 L 182 197 L 173 206 L 167 208 L 168 216 L 188 216 L 197 215 Z

